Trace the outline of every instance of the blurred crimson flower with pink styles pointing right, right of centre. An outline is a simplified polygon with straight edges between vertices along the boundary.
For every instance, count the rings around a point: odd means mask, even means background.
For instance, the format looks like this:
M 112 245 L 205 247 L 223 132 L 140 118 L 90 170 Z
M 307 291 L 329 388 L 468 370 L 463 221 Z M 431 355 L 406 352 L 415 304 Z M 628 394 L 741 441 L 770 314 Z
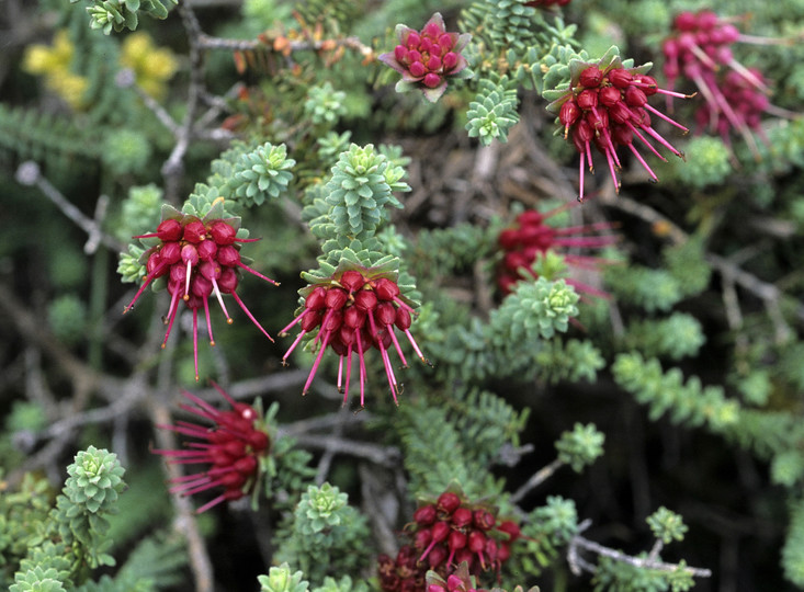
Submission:
M 599 235 L 598 231 L 611 229 L 611 223 L 586 224 L 556 228 L 546 224 L 552 216 L 566 210 L 573 204 L 565 204 L 546 213 L 529 209 L 517 216 L 513 227 L 503 229 L 497 242 L 505 253 L 497 275 L 497 284 L 503 294 L 513 291 L 522 278 L 522 271 L 536 277 L 533 263 L 537 257 L 548 250 L 560 252 L 569 249 L 600 249 L 619 240 L 615 235 Z M 571 266 L 585 270 L 597 270 L 603 260 L 590 255 L 562 253 L 564 261 Z M 604 292 L 575 278 L 566 278 L 568 284 L 579 292 L 605 297 Z

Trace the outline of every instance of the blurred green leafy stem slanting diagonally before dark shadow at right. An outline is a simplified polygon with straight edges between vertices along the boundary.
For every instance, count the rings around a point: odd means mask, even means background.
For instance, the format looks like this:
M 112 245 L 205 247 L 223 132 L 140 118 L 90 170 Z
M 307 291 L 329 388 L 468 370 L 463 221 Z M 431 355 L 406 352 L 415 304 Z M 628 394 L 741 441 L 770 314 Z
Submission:
M 679 368 L 665 373 L 656 358 L 645 360 L 637 353 L 620 354 L 611 369 L 622 388 L 648 406 L 650 419 L 669 413 L 673 423 L 706 424 L 715 432 L 723 432 L 739 419 L 739 405 L 727 399 L 722 388 L 703 387 L 697 376 L 684 384 Z

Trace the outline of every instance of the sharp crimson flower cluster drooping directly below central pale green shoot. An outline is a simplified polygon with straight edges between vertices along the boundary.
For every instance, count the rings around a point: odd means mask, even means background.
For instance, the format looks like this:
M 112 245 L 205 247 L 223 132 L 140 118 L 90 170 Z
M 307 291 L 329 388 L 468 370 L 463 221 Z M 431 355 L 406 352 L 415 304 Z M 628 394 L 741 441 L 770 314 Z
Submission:
M 388 353 L 392 346 L 399 355 L 403 366 L 407 367 L 408 363 L 395 329 L 405 333 L 416 354 L 427 362 L 410 333 L 412 314 L 414 309 L 403 299 L 399 286 L 393 280 L 375 276 L 366 269 L 337 273 L 328 282 L 309 287 L 304 309 L 282 329 L 280 334 L 285 335 L 295 325 L 302 328 L 282 360 L 286 362 L 304 335 L 315 332 L 313 344 L 314 348 L 318 348 L 318 354 L 304 385 L 304 392 L 309 390 L 324 352 L 329 348 L 340 357 L 338 390 L 343 392 L 346 405 L 349 398 L 352 354 L 356 352 L 360 368 L 360 406 L 363 407 L 367 379 L 365 354 L 371 348 L 376 348 L 383 358 L 394 402 L 398 405 L 399 385 Z

